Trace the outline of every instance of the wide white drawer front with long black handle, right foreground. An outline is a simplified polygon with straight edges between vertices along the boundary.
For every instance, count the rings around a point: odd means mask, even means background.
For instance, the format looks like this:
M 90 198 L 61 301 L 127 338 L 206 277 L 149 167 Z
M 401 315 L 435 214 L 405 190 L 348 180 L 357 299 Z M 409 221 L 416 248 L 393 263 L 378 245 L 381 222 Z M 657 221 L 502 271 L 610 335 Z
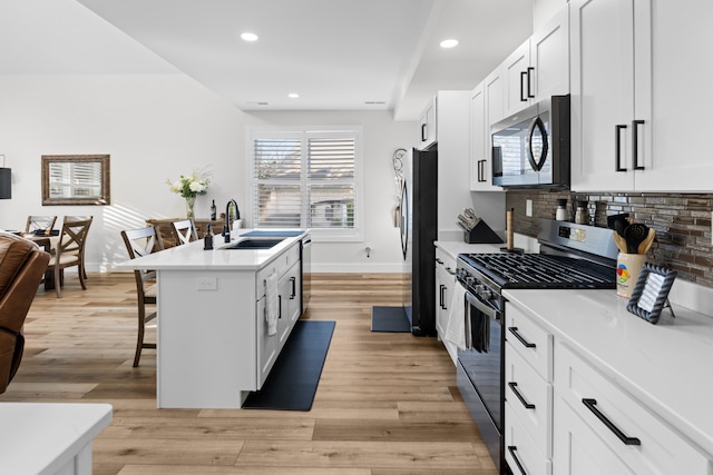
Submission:
M 567 346 L 557 346 L 555 387 L 636 474 L 709 474 L 710 461 Z M 586 404 L 585 404 L 586 400 Z M 602 420 L 595 413 L 598 412 Z M 619 432 L 619 436 L 615 432 Z M 622 438 L 636 438 L 627 445 Z

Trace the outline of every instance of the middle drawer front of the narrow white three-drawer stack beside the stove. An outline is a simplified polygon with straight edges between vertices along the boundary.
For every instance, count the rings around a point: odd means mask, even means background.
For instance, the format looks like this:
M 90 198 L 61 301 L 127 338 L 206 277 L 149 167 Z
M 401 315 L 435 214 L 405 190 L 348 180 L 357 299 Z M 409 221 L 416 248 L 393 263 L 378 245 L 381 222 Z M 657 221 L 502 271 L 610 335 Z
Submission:
M 519 395 L 519 396 L 518 396 Z M 505 399 L 512 409 L 506 419 L 517 417 L 535 441 L 539 452 L 553 456 L 553 385 L 506 343 L 505 350 Z M 505 441 L 508 444 L 508 441 Z

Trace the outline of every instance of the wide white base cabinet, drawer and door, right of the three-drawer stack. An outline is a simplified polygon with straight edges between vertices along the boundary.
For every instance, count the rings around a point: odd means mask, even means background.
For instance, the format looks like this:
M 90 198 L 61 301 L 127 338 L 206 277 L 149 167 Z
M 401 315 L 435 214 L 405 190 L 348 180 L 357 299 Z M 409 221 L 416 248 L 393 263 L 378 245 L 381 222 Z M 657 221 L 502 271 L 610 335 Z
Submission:
M 555 353 L 557 474 L 711 473 L 702 451 L 568 346 Z

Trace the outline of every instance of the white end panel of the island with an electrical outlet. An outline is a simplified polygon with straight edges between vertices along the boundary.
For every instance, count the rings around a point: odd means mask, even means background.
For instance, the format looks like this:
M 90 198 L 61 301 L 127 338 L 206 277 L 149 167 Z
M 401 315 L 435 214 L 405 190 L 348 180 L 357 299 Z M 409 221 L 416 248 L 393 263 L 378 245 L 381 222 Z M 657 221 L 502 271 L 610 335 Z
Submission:
M 162 270 L 157 284 L 158 407 L 240 408 L 257 389 L 255 274 Z

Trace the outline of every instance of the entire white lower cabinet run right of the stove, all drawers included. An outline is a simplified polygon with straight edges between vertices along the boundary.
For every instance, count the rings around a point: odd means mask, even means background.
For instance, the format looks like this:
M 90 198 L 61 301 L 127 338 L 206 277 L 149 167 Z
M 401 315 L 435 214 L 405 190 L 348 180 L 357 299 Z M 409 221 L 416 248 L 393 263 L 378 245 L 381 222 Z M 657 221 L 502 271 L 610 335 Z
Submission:
M 505 455 L 514 474 L 713 474 L 695 441 L 545 321 L 507 304 Z

